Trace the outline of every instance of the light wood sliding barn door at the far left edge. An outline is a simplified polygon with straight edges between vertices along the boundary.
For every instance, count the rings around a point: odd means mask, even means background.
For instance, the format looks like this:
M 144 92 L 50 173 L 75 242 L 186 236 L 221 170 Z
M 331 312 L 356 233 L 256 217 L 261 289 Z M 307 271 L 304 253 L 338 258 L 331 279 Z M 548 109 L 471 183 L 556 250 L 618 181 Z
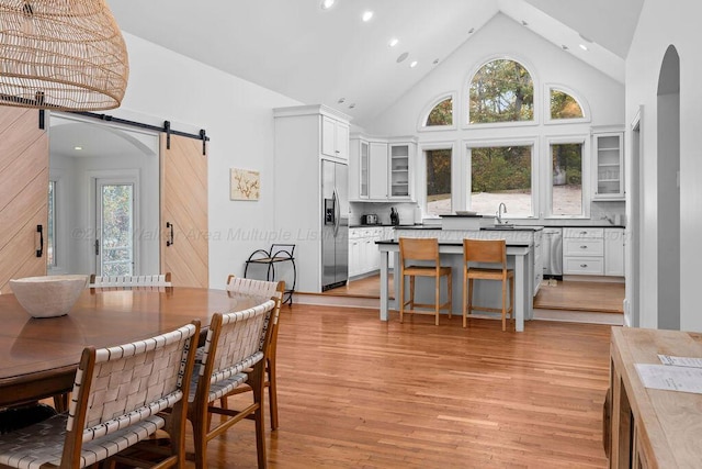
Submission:
M 9 280 L 46 275 L 48 136 L 38 111 L 0 105 L 0 291 Z M 41 255 L 41 257 L 38 257 Z

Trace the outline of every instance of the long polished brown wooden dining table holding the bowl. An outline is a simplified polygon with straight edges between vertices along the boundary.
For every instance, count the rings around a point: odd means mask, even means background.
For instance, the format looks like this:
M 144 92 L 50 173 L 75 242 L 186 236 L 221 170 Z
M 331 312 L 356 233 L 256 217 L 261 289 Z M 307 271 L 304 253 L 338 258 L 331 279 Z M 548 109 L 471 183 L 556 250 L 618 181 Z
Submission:
M 193 320 L 206 330 L 216 312 L 267 300 L 203 288 L 86 289 L 67 315 L 35 319 L 13 294 L 0 294 L 0 407 L 70 391 L 87 346 L 126 344 Z

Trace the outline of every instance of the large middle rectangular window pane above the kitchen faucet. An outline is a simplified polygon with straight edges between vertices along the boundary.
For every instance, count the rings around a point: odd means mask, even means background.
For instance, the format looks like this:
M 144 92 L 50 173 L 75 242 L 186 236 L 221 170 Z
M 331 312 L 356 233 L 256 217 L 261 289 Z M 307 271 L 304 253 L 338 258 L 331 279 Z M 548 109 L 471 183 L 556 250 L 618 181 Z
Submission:
M 508 216 L 531 216 L 531 146 L 471 148 L 471 210 L 483 215 L 505 202 Z

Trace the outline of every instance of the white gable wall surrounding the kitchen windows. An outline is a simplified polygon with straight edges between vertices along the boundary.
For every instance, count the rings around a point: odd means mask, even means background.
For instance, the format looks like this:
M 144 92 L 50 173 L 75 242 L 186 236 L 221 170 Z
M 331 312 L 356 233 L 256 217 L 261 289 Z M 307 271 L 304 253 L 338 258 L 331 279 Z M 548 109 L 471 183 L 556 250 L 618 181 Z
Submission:
M 534 82 L 535 123 L 509 127 L 483 125 L 468 129 L 464 124 L 467 114 L 468 81 L 483 64 L 500 57 L 517 59 L 530 71 Z M 585 101 L 586 110 L 590 113 L 590 122 L 568 125 L 545 122 L 550 111 L 548 86 L 554 85 L 571 90 L 576 98 Z M 449 93 L 454 93 L 455 97 L 454 123 L 457 130 L 418 132 L 420 118 L 429 111 L 428 107 L 432 101 Z M 454 188 L 465 188 L 467 169 L 463 166 L 466 141 L 497 138 L 534 141 L 536 148 L 534 157 L 548 161 L 547 136 L 587 136 L 590 134 L 591 126 L 623 124 L 623 83 L 576 59 L 570 53 L 556 47 L 508 16 L 497 14 L 393 107 L 374 119 L 365 131 L 374 135 L 389 136 L 416 134 L 419 137 L 419 155 L 421 155 L 422 145 L 432 142 L 441 142 L 446 146 L 453 145 L 452 185 Z M 548 171 L 547 168 L 541 165 L 537 177 L 544 178 Z M 416 180 L 422 180 L 420 172 L 417 174 Z M 541 187 L 545 188 L 545 183 Z M 454 210 L 465 209 L 465 197 L 461 194 L 456 198 L 454 194 Z M 542 194 L 539 200 L 539 212 L 544 212 L 546 196 Z M 621 214 L 623 211 L 624 204 L 621 202 L 596 203 L 591 205 L 591 217 L 593 222 L 602 223 L 602 215 L 609 214 L 610 219 L 613 219 L 614 214 Z

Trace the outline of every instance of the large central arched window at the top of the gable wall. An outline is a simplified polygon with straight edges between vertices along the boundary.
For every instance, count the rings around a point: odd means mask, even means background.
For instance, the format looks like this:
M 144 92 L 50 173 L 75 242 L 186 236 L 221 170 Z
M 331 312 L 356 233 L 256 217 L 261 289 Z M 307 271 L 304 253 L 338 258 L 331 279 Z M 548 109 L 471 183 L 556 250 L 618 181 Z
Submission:
M 518 62 L 488 62 L 473 76 L 469 123 L 533 121 L 534 83 Z

